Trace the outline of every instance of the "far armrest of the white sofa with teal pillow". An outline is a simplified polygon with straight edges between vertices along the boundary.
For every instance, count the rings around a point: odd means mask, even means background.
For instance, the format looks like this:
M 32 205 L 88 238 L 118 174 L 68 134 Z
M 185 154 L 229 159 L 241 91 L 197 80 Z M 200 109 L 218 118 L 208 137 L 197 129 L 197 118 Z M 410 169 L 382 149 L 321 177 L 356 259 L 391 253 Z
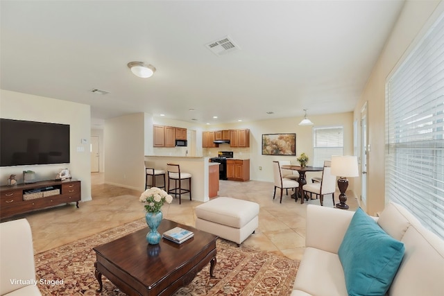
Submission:
M 307 205 L 305 247 L 315 247 L 338 254 L 353 214 L 354 211 Z

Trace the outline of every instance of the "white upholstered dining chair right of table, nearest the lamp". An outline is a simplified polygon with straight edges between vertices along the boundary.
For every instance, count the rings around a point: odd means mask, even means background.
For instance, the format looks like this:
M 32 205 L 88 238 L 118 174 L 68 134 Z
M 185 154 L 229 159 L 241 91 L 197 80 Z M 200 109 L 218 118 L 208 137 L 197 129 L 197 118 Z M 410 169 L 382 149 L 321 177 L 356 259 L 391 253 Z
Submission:
M 336 190 L 336 176 L 331 174 L 331 164 L 329 160 L 326 160 L 324 162 L 324 168 L 322 171 L 322 177 L 321 182 L 314 182 L 311 184 L 305 184 L 302 186 L 302 191 L 304 194 L 309 193 L 310 198 L 313 194 L 316 195 L 316 199 L 318 199 L 321 202 L 321 206 L 324 202 L 324 195 L 326 194 L 332 194 L 333 198 L 333 204 L 334 204 L 334 191 Z

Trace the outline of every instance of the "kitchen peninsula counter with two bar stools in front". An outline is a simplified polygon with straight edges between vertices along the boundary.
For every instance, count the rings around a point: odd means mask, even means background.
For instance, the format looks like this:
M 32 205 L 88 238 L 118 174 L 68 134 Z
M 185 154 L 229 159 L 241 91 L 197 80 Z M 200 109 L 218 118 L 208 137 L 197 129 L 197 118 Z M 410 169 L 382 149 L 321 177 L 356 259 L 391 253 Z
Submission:
M 191 196 L 192 200 L 207 202 L 210 200 L 210 166 L 217 165 L 210 162 L 210 157 L 192 157 L 192 156 L 157 156 L 146 155 L 145 161 L 149 166 L 162 169 L 167 172 L 167 164 L 179 164 L 180 172 L 191 174 Z M 168 173 L 167 188 L 168 188 Z M 185 186 L 187 182 L 182 183 Z M 188 194 L 182 196 L 182 202 L 189 200 Z

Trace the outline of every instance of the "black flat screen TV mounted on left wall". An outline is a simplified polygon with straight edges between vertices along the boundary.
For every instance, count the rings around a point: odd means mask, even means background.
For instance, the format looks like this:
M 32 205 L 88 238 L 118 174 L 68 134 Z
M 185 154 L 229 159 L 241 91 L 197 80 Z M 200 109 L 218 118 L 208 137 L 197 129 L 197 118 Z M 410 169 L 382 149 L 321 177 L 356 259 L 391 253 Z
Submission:
M 69 125 L 0 119 L 0 166 L 69 163 Z

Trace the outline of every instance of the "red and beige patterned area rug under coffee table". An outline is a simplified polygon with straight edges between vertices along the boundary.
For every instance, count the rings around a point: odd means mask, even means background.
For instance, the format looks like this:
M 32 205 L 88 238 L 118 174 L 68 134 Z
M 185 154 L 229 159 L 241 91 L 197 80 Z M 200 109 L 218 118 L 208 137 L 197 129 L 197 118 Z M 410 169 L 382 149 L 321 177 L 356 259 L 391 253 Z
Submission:
M 42 295 L 99 295 L 93 247 L 146 227 L 144 219 L 126 223 L 74 243 L 35 255 L 37 286 Z M 210 264 L 174 295 L 290 295 L 299 261 L 235 243 L 216 241 L 214 278 Z M 103 277 L 101 295 L 125 295 Z

